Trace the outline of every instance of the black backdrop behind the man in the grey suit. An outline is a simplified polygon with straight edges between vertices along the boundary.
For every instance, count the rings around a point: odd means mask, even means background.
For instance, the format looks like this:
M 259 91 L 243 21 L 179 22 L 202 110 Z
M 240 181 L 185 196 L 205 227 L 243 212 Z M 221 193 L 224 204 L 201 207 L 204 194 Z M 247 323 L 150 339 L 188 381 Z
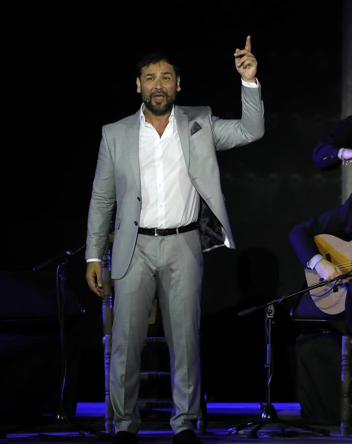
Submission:
M 341 118 L 341 17 L 341 1 L 58 4 L 9 14 L 1 270 L 31 270 L 85 243 L 101 126 L 140 107 L 134 67 L 145 50 L 169 48 L 179 58 L 180 105 L 240 118 L 233 52 L 251 35 L 265 135 L 218 156 L 237 249 L 205 257 L 202 341 L 211 401 L 263 401 L 265 312 L 237 313 L 302 288 L 289 231 L 340 204 L 340 169 L 320 171 L 311 151 Z M 85 282 L 83 253 L 71 259 L 68 285 L 86 309 L 78 398 L 102 401 L 100 301 Z M 18 306 L 2 290 L 3 307 Z M 26 313 L 33 302 L 21 304 Z M 296 400 L 292 305 L 276 310 L 273 401 Z

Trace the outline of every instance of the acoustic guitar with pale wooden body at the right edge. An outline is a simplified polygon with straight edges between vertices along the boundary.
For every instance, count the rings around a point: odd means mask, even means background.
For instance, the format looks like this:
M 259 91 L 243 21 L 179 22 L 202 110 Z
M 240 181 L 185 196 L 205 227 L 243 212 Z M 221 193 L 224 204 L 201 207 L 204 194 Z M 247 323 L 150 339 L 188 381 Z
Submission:
M 352 269 L 352 241 L 347 242 L 331 234 L 319 234 L 314 237 L 314 241 L 324 259 L 337 265 L 341 273 Z M 319 283 L 319 275 L 315 270 L 305 268 L 304 271 L 308 286 Z M 313 302 L 327 314 L 338 314 L 345 310 L 346 293 L 347 287 L 342 281 L 310 290 Z

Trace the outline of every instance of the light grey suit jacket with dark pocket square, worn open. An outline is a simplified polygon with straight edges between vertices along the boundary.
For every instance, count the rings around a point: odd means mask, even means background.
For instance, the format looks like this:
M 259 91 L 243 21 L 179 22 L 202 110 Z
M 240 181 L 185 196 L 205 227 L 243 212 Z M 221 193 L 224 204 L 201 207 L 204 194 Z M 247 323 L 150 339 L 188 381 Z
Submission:
M 86 259 L 101 258 L 116 204 L 113 279 L 125 275 L 137 238 L 141 211 L 139 115 L 137 111 L 103 126 L 89 208 Z M 223 245 L 225 237 L 228 246 L 234 248 L 216 150 L 247 145 L 263 136 L 260 86 L 242 86 L 240 120 L 215 117 L 209 107 L 179 106 L 175 106 L 175 118 L 189 176 L 201 196 L 199 227 L 203 250 Z

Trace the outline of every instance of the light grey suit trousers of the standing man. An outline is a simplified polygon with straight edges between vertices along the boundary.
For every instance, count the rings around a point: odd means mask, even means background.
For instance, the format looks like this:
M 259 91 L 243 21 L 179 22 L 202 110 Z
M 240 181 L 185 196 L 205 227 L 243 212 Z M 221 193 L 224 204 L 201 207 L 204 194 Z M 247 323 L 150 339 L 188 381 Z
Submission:
M 138 234 L 126 275 L 115 280 L 110 393 L 116 432 L 137 433 L 140 359 L 156 294 L 169 347 L 174 433 L 192 428 L 199 412 L 199 321 L 203 256 L 198 230 Z

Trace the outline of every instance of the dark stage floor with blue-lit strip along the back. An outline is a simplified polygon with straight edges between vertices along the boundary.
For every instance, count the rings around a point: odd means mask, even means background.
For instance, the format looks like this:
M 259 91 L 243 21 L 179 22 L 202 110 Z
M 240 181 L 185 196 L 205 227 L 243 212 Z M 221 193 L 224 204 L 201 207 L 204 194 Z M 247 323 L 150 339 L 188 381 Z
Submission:
M 296 403 L 273 403 L 279 420 L 297 421 L 300 418 L 300 406 Z M 173 433 L 168 424 L 170 409 L 141 410 L 142 427 L 138 433 L 140 443 L 171 444 Z M 91 443 L 94 441 L 109 442 L 110 437 L 104 434 L 104 404 L 78 403 L 76 424 L 66 421 L 56 421 L 50 417 L 42 418 L 37 424 L 17 423 L 1 426 L 0 443 Z M 313 432 L 300 427 L 285 426 L 269 423 L 257 432 L 257 438 L 248 436 L 254 425 L 245 426 L 243 433 L 229 434 L 232 427 L 260 420 L 259 403 L 208 403 L 207 429 L 198 433 L 202 443 L 351 443 L 352 434 L 348 437 L 341 435 L 340 427 L 315 426 L 329 432 L 329 436 L 316 436 Z M 312 425 L 314 427 L 314 425 Z M 283 425 L 284 427 L 284 425 Z M 195 429 L 196 430 L 196 429 Z M 82 433 L 86 435 L 83 436 Z M 90 434 L 90 432 L 93 432 Z

